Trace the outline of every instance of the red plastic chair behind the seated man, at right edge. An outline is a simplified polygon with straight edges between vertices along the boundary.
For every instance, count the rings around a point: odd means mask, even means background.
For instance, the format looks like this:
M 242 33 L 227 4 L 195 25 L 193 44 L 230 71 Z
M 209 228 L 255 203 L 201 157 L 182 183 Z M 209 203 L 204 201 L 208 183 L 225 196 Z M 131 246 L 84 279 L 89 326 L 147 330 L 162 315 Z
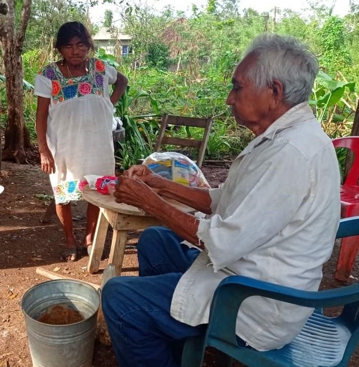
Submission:
M 346 218 L 359 215 L 359 136 L 346 136 L 333 139 L 335 148 L 348 148 L 354 153 L 350 171 L 340 187 L 340 216 Z M 359 250 L 359 236 L 341 240 L 335 278 L 348 280 Z

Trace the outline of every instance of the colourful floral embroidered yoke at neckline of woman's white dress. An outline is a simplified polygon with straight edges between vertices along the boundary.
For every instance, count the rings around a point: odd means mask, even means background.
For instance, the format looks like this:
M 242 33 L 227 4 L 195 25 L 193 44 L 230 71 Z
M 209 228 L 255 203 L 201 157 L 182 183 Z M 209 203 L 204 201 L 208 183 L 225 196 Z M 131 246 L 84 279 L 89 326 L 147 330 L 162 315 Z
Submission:
M 89 72 L 81 77 L 65 78 L 55 62 L 44 67 L 39 74 L 52 83 L 51 98 L 54 105 L 89 94 L 104 95 L 106 66 L 97 58 L 89 60 Z

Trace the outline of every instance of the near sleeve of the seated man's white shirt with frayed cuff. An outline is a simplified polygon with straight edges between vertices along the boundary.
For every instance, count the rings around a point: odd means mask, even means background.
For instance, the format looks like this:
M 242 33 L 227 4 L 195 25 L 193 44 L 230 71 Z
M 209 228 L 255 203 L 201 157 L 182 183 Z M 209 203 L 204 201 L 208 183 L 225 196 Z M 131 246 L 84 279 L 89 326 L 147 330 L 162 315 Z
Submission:
M 254 184 L 237 202 L 236 190 L 228 200 L 232 213 L 199 219 L 197 237 L 203 241 L 214 271 L 218 271 L 268 242 L 298 212 L 309 193 L 309 163 L 291 145 L 269 147 L 264 162 L 253 164 L 237 185 Z M 254 167 L 253 167 L 254 166 Z M 285 200 L 285 203 L 283 203 Z

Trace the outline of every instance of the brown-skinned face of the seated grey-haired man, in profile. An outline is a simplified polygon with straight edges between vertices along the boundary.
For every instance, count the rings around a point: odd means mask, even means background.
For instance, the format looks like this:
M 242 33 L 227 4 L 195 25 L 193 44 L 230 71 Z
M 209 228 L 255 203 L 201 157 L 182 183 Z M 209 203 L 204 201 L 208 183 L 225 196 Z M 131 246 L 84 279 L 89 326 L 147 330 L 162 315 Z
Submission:
M 227 104 L 232 106 L 232 114 L 239 125 L 259 135 L 268 127 L 273 90 L 269 87 L 255 88 L 246 78 L 248 67 L 255 62 L 256 57 L 249 54 L 239 63 L 232 78 L 233 88 Z

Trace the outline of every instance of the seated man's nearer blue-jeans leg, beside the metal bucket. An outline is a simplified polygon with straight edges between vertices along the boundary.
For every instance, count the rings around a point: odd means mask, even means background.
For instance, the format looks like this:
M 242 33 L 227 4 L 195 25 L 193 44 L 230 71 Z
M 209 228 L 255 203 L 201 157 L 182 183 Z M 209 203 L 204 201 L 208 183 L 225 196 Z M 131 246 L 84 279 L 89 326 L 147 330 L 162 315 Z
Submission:
M 204 326 L 189 326 L 170 315 L 182 273 L 120 276 L 102 290 L 102 310 L 120 367 L 177 367 L 173 346 Z

